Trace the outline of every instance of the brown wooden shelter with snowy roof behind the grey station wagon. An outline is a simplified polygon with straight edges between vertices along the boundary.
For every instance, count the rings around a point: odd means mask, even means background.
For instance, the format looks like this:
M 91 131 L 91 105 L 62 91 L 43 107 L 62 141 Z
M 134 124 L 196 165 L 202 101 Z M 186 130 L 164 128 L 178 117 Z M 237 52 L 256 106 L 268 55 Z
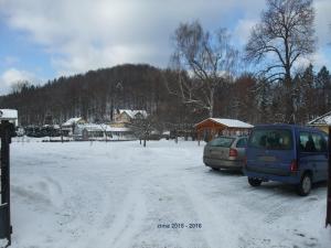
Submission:
M 207 118 L 194 127 L 197 140 L 210 141 L 220 134 L 248 134 L 254 126 L 236 119 Z

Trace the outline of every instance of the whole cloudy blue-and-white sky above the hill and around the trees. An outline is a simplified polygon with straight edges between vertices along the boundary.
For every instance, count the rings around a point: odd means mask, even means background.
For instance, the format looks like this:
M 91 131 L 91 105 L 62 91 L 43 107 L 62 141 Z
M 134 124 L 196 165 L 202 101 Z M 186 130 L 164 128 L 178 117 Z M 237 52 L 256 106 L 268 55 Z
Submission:
M 42 84 L 122 63 L 167 67 L 180 22 L 227 28 L 243 50 L 264 8 L 265 0 L 0 0 L 0 94 L 20 79 Z M 331 71 L 331 1 L 314 8 L 311 60 Z

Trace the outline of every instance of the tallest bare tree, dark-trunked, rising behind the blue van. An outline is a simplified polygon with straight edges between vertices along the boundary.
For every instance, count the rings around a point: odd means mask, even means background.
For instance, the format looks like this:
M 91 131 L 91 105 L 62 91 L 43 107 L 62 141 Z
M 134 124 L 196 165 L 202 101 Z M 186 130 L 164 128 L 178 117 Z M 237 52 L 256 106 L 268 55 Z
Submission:
M 312 0 L 267 0 L 261 21 L 253 28 L 246 58 L 266 62 L 261 71 L 270 82 L 286 87 L 286 120 L 295 122 L 292 68 L 302 56 L 314 51 Z

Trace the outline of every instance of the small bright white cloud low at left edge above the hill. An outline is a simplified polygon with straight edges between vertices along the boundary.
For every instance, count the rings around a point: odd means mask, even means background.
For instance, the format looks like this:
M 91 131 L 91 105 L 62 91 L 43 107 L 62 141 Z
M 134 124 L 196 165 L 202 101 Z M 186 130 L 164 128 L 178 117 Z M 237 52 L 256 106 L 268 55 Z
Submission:
M 0 95 L 9 93 L 13 84 L 22 80 L 28 80 L 32 84 L 40 82 L 40 79 L 30 72 L 9 68 L 0 75 Z

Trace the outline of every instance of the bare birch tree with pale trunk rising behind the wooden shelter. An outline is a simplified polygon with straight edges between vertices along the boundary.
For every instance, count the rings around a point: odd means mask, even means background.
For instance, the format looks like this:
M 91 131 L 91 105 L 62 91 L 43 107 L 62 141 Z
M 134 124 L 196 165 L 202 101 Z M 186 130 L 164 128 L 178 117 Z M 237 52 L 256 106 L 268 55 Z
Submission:
M 173 40 L 171 65 L 178 78 L 168 84 L 168 90 L 213 117 L 216 87 L 228 77 L 238 52 L 229 45 L 225 29 L 210 33 L 197 21 L 180 24 Z

